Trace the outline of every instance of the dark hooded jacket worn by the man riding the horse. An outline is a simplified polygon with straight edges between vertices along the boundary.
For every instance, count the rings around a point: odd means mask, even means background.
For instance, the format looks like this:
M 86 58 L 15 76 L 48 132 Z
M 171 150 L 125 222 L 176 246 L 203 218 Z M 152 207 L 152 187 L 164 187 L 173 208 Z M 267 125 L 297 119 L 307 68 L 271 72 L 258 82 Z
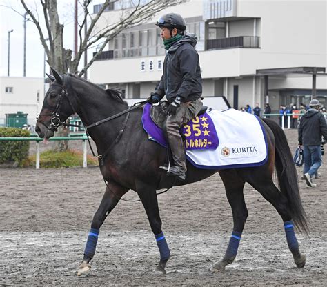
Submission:
M 196 43 L 195 34 L 186 33 L 169 48 L 164 61 L 164 73 L 155 90 L 160 99 L 164 95 L 169 102 L 177 95 L 182 101 L 193 101 L 201 97 L 202 78 L 199 55 L 194 48 Z

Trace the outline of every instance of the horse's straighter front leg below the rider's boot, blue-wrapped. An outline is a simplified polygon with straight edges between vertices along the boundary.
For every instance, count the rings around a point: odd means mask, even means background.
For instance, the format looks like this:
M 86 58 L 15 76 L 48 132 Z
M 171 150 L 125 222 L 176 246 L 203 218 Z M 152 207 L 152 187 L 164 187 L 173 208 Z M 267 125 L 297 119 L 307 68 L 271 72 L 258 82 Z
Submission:
M 137 193 L 146 210 L 146 215 L 148 215 L 150 226 L 155 235 L 155 240 L 157 241 L 157 246 L 160 252 L 160 261 L 158 266 L 155 268 L 155 272 L 166 274 L 165 267 L 170 257 L 170 250 L 164 232 L 161 230 L 161 219 L 159 215 L 156 190 L 153 186 L 141 183 L 138 185 Z

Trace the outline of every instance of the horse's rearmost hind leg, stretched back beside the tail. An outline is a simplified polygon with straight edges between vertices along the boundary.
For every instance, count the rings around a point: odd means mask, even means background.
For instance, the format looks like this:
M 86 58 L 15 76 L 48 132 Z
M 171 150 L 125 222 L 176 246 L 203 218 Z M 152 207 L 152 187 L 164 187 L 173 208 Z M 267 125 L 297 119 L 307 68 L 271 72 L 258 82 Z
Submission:
M 281 216 L 281 219 L 284 221 L 288 248 L 293 255 L 297 267 L 303 268 L 306 264 L 306 256 L 302 255 L 299 250 L 299 244 L 294 232 L 292 215 L 290 214 L 290 208 L 288 207 L 288 199 L 278 190 L 273 179 L 266 177 L 261 172 L 258 174 L 259 170 L 258 172 L 256 172 L 256 170 L 253 170 L 253 172 L 243 172 L 243 170 L 239 170 L 239 172 L 244 175 L 244 179 L 246 179 L 253 188 L 259 191 L 260 194 L 275 207 Z M 268 173 L 266 173 L 266 175 L 267 174 Z

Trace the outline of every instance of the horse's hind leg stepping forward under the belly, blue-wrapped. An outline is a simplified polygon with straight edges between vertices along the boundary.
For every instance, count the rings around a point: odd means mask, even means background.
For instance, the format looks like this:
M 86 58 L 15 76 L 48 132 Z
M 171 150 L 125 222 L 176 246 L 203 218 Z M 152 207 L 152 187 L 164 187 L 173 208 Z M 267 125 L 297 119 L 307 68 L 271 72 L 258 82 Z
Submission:
M 225 270 L 227 264 L 232 264 L 237 255 L 241 234 L 248 217 L 248 209 L 246 208 L 243 195 L 245 181 L 237 175 L 235 170 L 221 170 L 219 175 L 224 182 L 227 199 L 232 208 L 234 226 L 226 254 L 221 261 L 212 266 L 212 270 Z

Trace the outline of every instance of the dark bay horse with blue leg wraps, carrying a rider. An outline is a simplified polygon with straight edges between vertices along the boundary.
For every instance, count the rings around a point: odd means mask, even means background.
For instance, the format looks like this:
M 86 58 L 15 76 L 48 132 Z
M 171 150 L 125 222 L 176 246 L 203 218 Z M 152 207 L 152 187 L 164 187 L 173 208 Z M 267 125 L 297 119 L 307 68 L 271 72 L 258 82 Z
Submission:
M 123 101 L 116 90 L 103 90 L 73 75 L 54 74 L 49 76 L 52 84 L 43 102 L 43 108 L 37 120 L 35 130 L 39 137 L 48 139 L 54 135 L 57 127 L 75 112 L 97 146 L 100 170 L 108 182 L 101 204 L 95 212 L 91 230 L 79 266 L 78 275 L 90 270 L 90 261 L 95 255 L 99 229 L 103 221 L 115 208 L 128 190 L 139 195 L 148 215 L 150 227 L 155 235 L 160 253 L 156 267 L 159 273 L 166 273 L 166 263 L 170 250 L 161 230 L 161 219 L 156 190 L 174 184 L 171 177 L 159 170 L 166 160 L 166 148 L 149 141 L 141 123 L 142 108 L 135 108 L 124 115 L 101 124 L 94 124 L 110 116 L 127 110 L 128 103 Z M 283 130 L 269 119 L 261 119 L 268 142 L 268 160 L 262 166 L 252 168 L 232 168 L 224 170 L 199 169 L 188 163 L 186 181 L 177 181 L 175 185 L 200 181 L 215 172 L 224 182 L 226 196 L 232 208 L 233 228 L 226 254 L 213 265 L 212 270 L 224 270 L 232 264 L 236 255 L 241 233 L 244 229 L 248 210 L 244 201 L 244 184 L 248 182 L 261 195 L 273 204 L 282 221 L 288 247 L 298 267 L 304 267 L 305 255 L 299 251 L 294 227 L 308 232 L 306 214 L 301 204 L 297 172 L 293 157 Z M 273 183 L 276 170 L 279 188 Z

